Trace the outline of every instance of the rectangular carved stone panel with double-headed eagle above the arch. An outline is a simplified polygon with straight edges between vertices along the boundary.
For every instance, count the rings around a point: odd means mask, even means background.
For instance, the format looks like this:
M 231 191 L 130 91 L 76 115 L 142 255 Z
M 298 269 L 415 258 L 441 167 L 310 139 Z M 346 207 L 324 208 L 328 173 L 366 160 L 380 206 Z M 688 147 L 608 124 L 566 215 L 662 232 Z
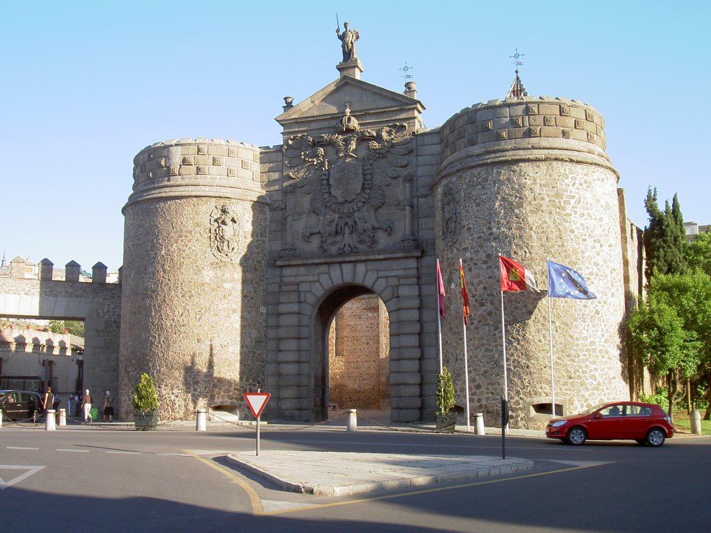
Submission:
M 292 214 L 284 220 L 282 257 L 411 248 L 407 125 L 360 129 L 346 105 L 334 131 L 284 144 L 284 209 Z

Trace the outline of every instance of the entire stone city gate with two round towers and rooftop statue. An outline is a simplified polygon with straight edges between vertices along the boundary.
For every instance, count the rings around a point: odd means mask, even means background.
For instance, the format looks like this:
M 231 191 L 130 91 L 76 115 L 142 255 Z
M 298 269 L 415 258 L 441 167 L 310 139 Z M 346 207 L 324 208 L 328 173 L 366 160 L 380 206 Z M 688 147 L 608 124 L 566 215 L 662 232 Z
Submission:
M 265 419 L 320 421 L 335 403 L 329 381 L 339 397 L 358 397 L 343 376 L 365 375 L 374 376 L 362 387 L 373 390 L 369 406 L 389 402 L 392 421 L 432 420 L 437 258 L 449 293 L 444 364 L 464 410 L 461 258 L 471 412 L 498 425 L 498 254 L 535 272 L 542 289 L 547 259 L 570 265 L 597 294 L 552 302 L 557 411 L 629 399 L 621 331 L 639 290 L 638 235 L 602 115 L 519 91 L 427 129 L 415 83 L 401 94 L 360 80 L 358 32 L 346 25 L 338 38 L 340 76 L 301 103 L 284 99 L 279 146 L 174 139 L 134 159 L 123 210 L 119 416 L 129 418 L 134 385 L 149 372 L 163 420 L 205 407 L 245 414 L 245 392 L 261 389 L 272 395 Z M 334 317 L 366 296 L 377 297 L 363 307 L 375 318 L 358 323 L 380 343 L 368 370 L 337 360 L 331 338 L 334 328 L 349 338 L 350 321 Z M 545 292 L 503 300 L 510 423 L 540 429 L 552 403 Z M 329 378 L 329 366 L 341 374 Z

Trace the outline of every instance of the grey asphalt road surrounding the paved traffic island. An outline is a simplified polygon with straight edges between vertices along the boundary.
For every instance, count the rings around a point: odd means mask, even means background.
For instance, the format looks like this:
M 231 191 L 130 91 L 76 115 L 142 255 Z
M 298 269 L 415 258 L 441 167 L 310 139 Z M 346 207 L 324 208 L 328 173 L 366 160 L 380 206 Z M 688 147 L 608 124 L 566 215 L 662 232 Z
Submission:
M 262 431 L 270 449 L 501 456 L 500 436 Z M 0 429 L 2 532 L 689 532 L 711 529 L 711 437 L 565 446 L 508 437 L 525 474 L 360 497 L 277 490 L 225 461 L 253 429 Z M 599 464 L 602 463 L 602 464 Z M 264 508 L 255 515 L 254 498 Z

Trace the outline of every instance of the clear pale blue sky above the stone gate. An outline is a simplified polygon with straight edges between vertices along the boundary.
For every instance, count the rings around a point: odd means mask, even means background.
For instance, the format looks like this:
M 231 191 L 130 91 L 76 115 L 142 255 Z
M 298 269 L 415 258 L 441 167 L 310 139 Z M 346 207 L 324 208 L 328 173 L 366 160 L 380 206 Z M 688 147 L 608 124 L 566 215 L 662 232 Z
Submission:
M 711 222 L 708 1 L 1 2 L 5 154 L 0 253 L 90 270 L 122 264 L 133 158 L 181 137 L 281 142 L 274 117 L 336 80 L 336 9 L 360 31 L 363 80 L 417 82 L 437 127 L 503 98 L 513 55 L 529 95 L 606 119 L 629 215 L 649 185 Z

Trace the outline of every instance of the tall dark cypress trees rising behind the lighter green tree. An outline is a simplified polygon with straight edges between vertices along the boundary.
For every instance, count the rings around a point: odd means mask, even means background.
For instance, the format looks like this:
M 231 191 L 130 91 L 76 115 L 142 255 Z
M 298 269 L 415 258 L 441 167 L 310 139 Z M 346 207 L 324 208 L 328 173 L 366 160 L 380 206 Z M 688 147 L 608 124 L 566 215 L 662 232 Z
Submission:
M 643 235 L 647 282 L 654 274 L 683 274 L 686 236 L 678 196 L 674 195 L 672 205 L 667 201 L 662 211 L 657 203 L 657 190 L 648 189 L 644 205 L 649 215 Z

